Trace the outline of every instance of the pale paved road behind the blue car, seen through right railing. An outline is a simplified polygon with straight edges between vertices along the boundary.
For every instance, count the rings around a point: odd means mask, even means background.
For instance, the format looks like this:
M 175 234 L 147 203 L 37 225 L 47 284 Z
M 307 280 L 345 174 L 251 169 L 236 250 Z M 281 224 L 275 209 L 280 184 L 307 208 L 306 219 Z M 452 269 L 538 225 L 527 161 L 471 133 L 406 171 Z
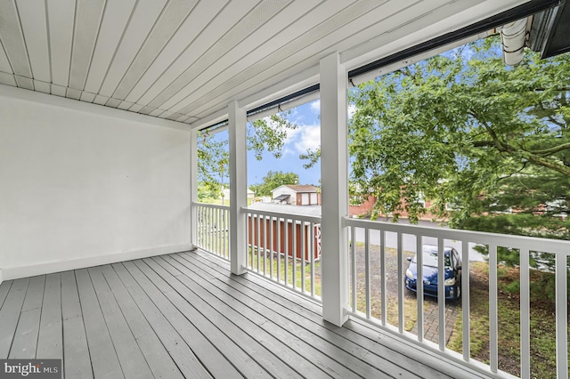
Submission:
M 409 224 L 407 220 L 400 219 L 399 223 Z M 439 225 L 437 222 L 418 222 L 419 226 L 428 227 L 428 228 L 443 228 L 449 229 L 447 227 Z M 356 229 L 356 240 L 358 242 L 364 242 L 364 230 L 362 228 Z M 371 245 L 380 245 L 380 233 L 377 230 L 371 230 L 370 235 Z M 437 245 L 436 238 L 429 238 L 424 237 L 423 243 L 425 245 Z M 386 233 L 386 246 L 387 247 L 397 247 L 397 236 L 395 233 L 387 232 Z M 445 246 L 452 246 L 461 254 L 461 241 L 453 241 L 453 240 L 445 240 Z M 480 262 L 485 261 L 485 257 L 478 253 L 473 247 L 475 244 L 469 244 L 469 262 Z M 411 236 L 409 234 L 403 235 L 403 249 L 408 251 L 416 251 L 416 238 L 415 236 Z

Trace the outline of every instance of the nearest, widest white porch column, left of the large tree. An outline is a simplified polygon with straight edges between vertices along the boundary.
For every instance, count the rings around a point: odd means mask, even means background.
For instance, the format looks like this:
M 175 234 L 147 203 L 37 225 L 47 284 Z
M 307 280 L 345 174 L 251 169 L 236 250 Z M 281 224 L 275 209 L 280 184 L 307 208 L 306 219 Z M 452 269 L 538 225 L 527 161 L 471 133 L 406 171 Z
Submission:
M 338 52 L 321 60 L 322 317 L 338 327 L 348 315 L 346 69 Z

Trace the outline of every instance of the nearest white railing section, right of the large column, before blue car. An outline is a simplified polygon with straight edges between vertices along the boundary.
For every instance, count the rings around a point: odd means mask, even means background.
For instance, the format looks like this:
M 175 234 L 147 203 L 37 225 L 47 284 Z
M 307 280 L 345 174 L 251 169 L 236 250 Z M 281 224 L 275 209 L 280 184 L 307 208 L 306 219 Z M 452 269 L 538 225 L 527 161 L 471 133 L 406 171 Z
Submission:
M 352 241 L 349 254 L 349 270 L 351 285 L 350 285 L 350 299 L 351 299 L 351 316 L 365 319 L 379 327 L 386 328 L 393 331 L 398 335 L 409 339 L 413 343 L 420 345 L 438 353 L 442 353 L 452 359 L 456 359 L 463 364 L 474 367 L 478 370 L 483 370 L 491 375 L 509 376 L 507 373 L 499 370 L 499 349 L 498 334 L 501 330 L 498 328 L 498 286 L 497 286 L 497 248 L 507 247 L 517 249 L 520 254 L 520 375 L 523 378 L 531 377 L 531 327 L 530 327 L 530 257 L 533 252 L 542 252 L 553 254 L 556 259 L 556 358 L 557 358 L 557 377 L 568 377 L 568 335 L 567 335 L 567 270 L 568 270 L 568 256 L 570 255 L 570 242 L 560 241 L 545 238 L 526 238 L 518 236 L 481 233 L 466 230 L 448 230 L 438 228 L 424 228 L 411 225 L 402 225 L 387 222 L 371 222 L 365 220 L 357 220 L 345 218 L 343 220 L 344 226 L 347 228 L 350 240 Z M 379 242 L 380 254 L 380 272 L 371 272 L 371 236 Z M 386 271 L 386 257 L 387 247 L 389 247 L 387 237 L 395 245 L 397 251 L 397 327 L 390 325 L 387 320 L 387 271 Z M 358 274 L 356 272 L 356 245 L 359 236 L 363 241 L 361 246 L 364 249 L 364 295 L 363 299 L 359 298 L 357 293 Z M 418 273 L 417 273 L 417 335 L 412 335 L 404 330 L 404 282 L 405 270 L 407 262 L 404 254 L 404 238 L 410 239 L 415 242 L 416 252 L 422 250 L 422 245 L 426 243 L 435 244 L 438 246 L 438 272 L 444 272 L 444 246 L 453 244 L 456 246 L 462 257 L 462 356 L 454 351 L 449 351 L 446 348 L 445 340 L 445 301 L 444 301 L 444 286 L 437 286 L 437 306 L 438 306 L 438 325 L 439 335 L 437 343 L 431 343 L 424 338 L 424 296 L 423 294 L 423 278 L 422 273 L 422 254 L 418 254 Z M 469 254 L 472 252 L 472 247 L 475 245 L 488 246 L 489 251 L 489 365 L 481 362 L 474 361 L 470 358 L 470 319 L 469 319 Z M 406 249 L 407 250 L 407 249 Z M 326 254 L 326 252 L 325 252 Z M 375 318 L 372 314 L 372 300 L 371 299 L 371 278 L 379 274 L 380 294 L 380 310 L 379 318 Z M 438 280 L 441 283 L 443 280 Z M 362 284 L 361 284 L 362 286 Z M 359 291 L 362 292 L 362 291 Z M 362 296 L 361 296 L 362 297 Z M 362 306 L 363 302 L 363 306 Z M 361 304 L 361 307 L 358 305 Z M 362 309 L 363 308 L 363 309 Z M 553 374 L 553 373 L 551 373 Z M 533 375 L 544 375 L 544 373 L 533 373 Z

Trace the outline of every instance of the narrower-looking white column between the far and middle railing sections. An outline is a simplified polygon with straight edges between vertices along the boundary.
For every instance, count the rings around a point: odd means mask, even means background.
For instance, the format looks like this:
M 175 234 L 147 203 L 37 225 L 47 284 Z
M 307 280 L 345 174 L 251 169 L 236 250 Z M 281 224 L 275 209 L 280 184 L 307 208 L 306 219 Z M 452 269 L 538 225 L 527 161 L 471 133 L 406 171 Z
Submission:
M 246 148 L 246 110 L 238 101 L 228 105 L 230 133 L 230 257 L 232 274 L 246 272 L 246 216 L 241 207 L 248 206 L 248 170 Z

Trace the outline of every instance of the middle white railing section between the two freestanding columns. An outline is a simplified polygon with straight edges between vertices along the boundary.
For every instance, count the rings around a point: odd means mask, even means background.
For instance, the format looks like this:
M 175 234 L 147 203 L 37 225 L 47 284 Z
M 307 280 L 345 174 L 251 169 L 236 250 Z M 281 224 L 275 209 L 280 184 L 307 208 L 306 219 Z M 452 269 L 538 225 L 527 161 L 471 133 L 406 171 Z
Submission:
M 246 214 L 247 269 L 321 299 L 321 218 L 243 208 Z M 316 286 L 315 286 L 316 285 Z

